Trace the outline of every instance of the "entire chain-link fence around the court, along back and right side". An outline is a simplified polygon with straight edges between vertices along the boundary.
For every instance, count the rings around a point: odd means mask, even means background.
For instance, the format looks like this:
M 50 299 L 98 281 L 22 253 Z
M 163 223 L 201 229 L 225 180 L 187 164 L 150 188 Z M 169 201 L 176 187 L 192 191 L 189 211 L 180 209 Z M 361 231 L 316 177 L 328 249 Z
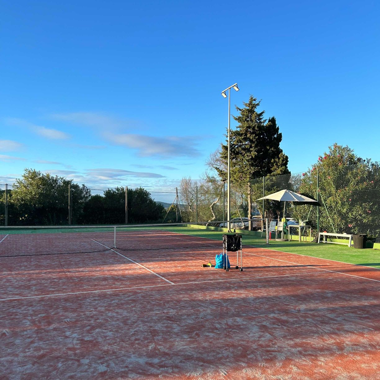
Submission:
M 128 189 L 0 184 L 1 225 L 97 225 L 227 220 L 226 181 L 188 181 L 178 188 Z M 283 202 L 262 196 L 288 189 L 318 201 L 286 203 L 285 214 L 317 230 L 366 233 L 380 242 L 380 169 L 338 165 L 231 184 L 231 220 L 280 220 Z M 249 197 L 250 192 L 250 197 Z M 251 200 L 251 202 L 250 202 Z M 263 226 L 261 226 L 262 228 Z M 260 226 L 255 226 L 260 228 Z

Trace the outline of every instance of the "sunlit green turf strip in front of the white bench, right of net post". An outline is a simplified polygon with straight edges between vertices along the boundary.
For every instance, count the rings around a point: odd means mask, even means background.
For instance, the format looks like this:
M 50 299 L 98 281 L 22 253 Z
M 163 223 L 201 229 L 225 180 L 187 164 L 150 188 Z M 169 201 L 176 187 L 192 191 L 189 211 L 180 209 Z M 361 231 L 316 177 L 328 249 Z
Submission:
M 269 245 L 265 245 L 265 248 L 380 269 L 380 250 L 377 249 L 356 249 L 348 247 L 348 245 L 275 240 L 270 240 Z

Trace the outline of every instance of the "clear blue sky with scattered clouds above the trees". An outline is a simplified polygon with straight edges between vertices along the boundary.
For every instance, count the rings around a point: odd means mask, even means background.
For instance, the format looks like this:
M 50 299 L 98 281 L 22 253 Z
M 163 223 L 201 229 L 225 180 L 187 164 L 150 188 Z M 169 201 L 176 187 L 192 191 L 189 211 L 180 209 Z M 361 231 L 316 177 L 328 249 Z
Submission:
M 197 179 L 223 141 L 220 92 L 235 82 L 231 106 L 262 99 L 293 173 L 334 142 L 380 160 L 379 11 L 376 1 L 5 2 L 0 183 L 24 168 L 92 187 Z

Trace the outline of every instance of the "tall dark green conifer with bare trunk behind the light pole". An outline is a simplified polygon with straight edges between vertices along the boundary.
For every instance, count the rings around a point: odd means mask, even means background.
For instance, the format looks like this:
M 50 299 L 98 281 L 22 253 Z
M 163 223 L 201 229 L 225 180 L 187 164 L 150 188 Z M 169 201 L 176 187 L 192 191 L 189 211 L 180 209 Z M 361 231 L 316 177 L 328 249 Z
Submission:
M 275 117 L 264 119 L 265 111 L 258 112 L 260 101 L 252 95 L 234 119 L 236 130 L 230 131 L 230 172 L 231 182 L 244 187 L 248 201 L 248 216 L 252 215 L 252 181 L 268 174 L 288 174 L 288 156 L 280 148 L 282 133 Z M 227 177 L 228 145 L 222 144 L 219 162 L 214 166 L 222 178 Z M 264 217 L 264 212 L 262 213 Z M 251 229 L 251 226 L 250 226 Z

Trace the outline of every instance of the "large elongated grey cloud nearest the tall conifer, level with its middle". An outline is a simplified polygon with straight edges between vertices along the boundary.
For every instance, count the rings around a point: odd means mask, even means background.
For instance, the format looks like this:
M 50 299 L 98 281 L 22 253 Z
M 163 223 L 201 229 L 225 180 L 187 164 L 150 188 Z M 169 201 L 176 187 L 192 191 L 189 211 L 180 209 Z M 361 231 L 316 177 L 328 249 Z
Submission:
M 111 132 L 106 132 L 104 135 L 114 144 L 136 149 L 142 157 L 196 157 L 199 155 L 199 151 L 193 146 L 195 137 L 155 137 Z

